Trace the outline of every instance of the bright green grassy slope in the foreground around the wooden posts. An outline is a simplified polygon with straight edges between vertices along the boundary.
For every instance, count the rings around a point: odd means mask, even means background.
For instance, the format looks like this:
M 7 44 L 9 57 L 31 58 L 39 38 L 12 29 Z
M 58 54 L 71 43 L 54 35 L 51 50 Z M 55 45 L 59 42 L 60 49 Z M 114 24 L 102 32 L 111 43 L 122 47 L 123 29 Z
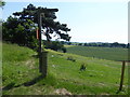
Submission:
M 38 70 L 37 54 L 15 44 L 3 43 L 3 95 L 127 95 L 128 67 L 123 92 L 116 94 L 121 63 L 48 51 L 48 77 Z M 72 57 L 76 61 L 68 60 Z M 87 69 L 80 71 L 86 64 Z

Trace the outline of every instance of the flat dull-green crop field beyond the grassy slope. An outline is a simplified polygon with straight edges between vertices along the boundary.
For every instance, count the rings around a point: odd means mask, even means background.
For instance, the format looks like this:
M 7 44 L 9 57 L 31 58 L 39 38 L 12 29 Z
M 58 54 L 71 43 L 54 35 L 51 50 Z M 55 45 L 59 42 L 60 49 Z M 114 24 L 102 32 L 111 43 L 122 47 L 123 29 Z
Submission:
M 69 46 L 66 45 L 67 53 L 87 57 L 96 57 L 108 60 L 128 60 L 128 50 L 121 47 L 94 47 L 94 46 Z

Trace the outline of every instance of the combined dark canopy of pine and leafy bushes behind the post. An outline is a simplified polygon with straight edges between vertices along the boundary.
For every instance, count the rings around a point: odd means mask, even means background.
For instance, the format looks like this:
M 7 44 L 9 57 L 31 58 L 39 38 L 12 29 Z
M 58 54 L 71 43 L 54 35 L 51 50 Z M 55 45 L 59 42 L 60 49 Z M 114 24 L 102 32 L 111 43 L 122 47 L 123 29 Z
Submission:
M 41 6 L 27 5 L 22 12 L 13 13 L 14 16 L 8 17 L 6 22 L 2 24 L 2 38 L 4 41 L 17 43 L 31 48 L 38 47 L 38 40 L 36 36 L 36 29 L 38 28 L 38 13 L 42 11 L 44 17 L 42 17 L 42 29 L 47 40 L 50 41 L 53 36 L 57 36 L 60 39 L 66 41 L 70 40 L 67 31 L 66 24 L 55 22 L 55 12 L 57 9 L 47 9 Z

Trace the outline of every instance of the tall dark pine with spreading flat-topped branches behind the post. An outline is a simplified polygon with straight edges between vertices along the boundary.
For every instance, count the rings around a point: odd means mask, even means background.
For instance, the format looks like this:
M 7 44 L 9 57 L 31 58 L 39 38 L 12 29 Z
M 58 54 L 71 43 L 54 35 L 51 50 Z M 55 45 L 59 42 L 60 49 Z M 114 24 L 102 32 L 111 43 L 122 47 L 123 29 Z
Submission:
M 17 16 L 20 19 L 30 19 L 35 24 L 38 24 L 38 13 L 42 12 L 44 15 L 42 17 L 42 28 L 46 29 L 44 36 L 47 37 L 47 40 L 50 41 L 52 39 L 51 34 L 56 33 L 60 39 L 69 41 L 70 37 L 67 31 L 70 31 L 70 29 L 67 28 L 66 24 L 60 24 L 60 22 L 54 20 L 56 18 L 55 12 L 57 11 L 57 9 L 36 8 L 32 4 L 29 4 L 27 9 L 24 9 L 22 12 L 13 13 L 13 15 Z

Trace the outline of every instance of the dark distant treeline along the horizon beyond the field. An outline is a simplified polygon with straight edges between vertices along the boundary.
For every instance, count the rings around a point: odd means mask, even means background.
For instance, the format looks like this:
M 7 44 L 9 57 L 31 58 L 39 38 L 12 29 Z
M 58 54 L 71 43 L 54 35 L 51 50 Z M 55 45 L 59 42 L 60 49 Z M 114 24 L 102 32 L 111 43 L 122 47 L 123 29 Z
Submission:
M 130 44 L 125 44 L 125 43 L 104 43 L 104 42 L 89 42 L 89 43 L 78 43 L 78 42 L 62 42 L 63 44 L 67 45 L 82 45 L 82 46 L 103 46 L 103 47 L 123 47 L 123 48 L 129 48 Z

